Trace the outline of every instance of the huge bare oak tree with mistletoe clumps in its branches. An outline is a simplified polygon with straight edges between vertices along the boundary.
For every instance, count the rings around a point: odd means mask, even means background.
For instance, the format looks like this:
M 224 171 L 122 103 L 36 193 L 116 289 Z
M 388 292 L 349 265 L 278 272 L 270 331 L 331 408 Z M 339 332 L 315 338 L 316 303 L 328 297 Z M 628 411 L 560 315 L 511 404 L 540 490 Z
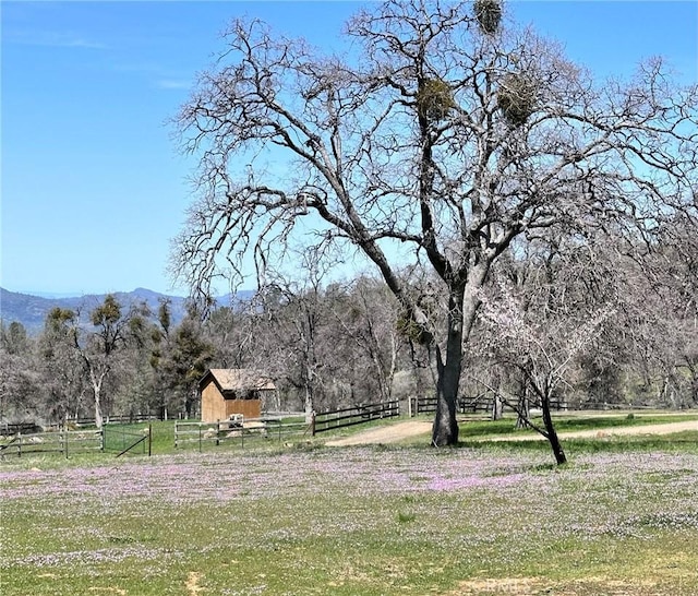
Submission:
M 347 56 L 233 21 L 177 117 L 200 159 L 178 273 L 207 296 L 221 270 L 241 274 L 249 254 L 263 270 L 296 234 L 358 249 L 433 345 L 434 445 L 458 440 L 464 345 L 513 239 L 640 234 L 693 202 L 698 176 L 698 90 L 660 59 L 599 83 L 559 46 L 505 26 L 498 3 L 476 4 L 371 7 L 347 25 Z M 397 275 L 408 258 L 440 279 L 443 326 Z

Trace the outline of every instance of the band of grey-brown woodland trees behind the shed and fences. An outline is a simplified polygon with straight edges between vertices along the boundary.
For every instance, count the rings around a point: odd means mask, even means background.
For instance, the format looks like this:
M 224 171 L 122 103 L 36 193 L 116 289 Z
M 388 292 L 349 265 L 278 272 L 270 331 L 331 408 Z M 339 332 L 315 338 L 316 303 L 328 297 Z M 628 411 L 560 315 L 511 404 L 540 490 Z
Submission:
M 522 409 L 541 397 L 696 406 L 698 237 L 682 226 L 667 223 L 658 243 L 641 246 L 606 235 L 517 245 L 481 295 L 461 396 L 496 395 Z M 432 318 L 446 317 L 434 279 L 402 274 Z M 279 278 L 205 318 L 192 303 L 178 324 L 167 301 L 151 312 L 108 296 L 89 314 L 81 326 L 76 312 L 55 309 L 37 336 L 2 323 L 3 420 L 195 416 L 207 368 L 263 370 L 289 410 L 435 393 L 433 349 L 377 278 Z

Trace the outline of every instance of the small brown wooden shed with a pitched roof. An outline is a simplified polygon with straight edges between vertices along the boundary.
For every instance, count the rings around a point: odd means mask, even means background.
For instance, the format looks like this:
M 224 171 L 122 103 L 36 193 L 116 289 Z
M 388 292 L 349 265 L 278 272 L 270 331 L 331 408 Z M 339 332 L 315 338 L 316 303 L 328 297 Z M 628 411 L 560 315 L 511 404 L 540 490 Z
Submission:
M 212 368 L 198 381 L 203 422 L 227 420 L 233 414 L 260 418 L 276 385 L 268 377 L 251 369 Z

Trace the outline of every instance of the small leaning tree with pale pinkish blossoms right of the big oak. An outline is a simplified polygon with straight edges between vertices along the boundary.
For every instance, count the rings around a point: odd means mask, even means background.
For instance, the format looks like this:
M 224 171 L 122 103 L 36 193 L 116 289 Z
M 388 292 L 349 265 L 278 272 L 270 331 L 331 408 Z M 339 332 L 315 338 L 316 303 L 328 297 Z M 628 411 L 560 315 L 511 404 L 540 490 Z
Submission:
M 612 288 L 599 288 L 598 295 L 592 290 L 594 295 L 588 296 L 588 283 L 599 272 L 580 271 L 586 260 L 574 254 L 563 259 L 566 266 L 557 263 L 558 275 L 552 275 L 551 260 L 545 260 L 540 267 L 542 278 L 527 285 L 510 277 L 496 278 L 494 289 L 482 297 L 481 320 L 489 341 L 480 346 L 500 366 L 519 371 L 541 409 L 542 427 L 532 421 L 530 404 L 522 404 L 520 396 L 505 396 L 504 401 L 526 426 L 549 440 L 558 464 L 566 462 L 566 455 L 553 422 L 553 398 L 569 384 L 578 357 L 594 347 L 594 339 L 615 312 Z M 530 262 L 527 266 L 534 269 Z

